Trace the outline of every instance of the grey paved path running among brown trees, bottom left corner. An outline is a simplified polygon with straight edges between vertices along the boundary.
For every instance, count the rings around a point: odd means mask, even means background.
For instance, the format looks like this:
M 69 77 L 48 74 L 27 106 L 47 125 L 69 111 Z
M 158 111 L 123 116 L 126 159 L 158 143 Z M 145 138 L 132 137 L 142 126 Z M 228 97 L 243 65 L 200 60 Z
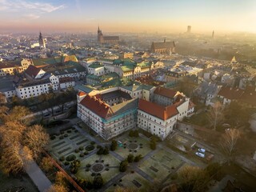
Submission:
M 46 190 L 50 189 L 50 186 L 52 185 L 50 180 L 46 178 L 46 175 L 42 172 L 36 162 L 32 161 L 28 163 L 28 165 L 25 166 L 25 170 L 40 192 L 46 192 Z

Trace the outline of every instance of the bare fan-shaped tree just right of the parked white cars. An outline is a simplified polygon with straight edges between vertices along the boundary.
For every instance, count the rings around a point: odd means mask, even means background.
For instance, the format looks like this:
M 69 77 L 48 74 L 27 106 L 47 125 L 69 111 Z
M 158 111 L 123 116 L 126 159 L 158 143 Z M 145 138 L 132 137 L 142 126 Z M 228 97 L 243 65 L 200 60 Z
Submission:
M 236 129 L 227 130 L 225 134 L 222 135 L 222 140 L 220 145 L 222 150 L 230 157 L 234 151 L 234 148 L 240 138 L 241 132 Z

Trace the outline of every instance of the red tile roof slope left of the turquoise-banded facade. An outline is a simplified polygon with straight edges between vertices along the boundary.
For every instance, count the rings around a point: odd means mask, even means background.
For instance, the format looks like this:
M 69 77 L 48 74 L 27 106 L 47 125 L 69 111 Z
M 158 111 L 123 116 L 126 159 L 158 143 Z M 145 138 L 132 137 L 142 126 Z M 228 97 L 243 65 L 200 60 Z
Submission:
M 109 115 L 113 114 L 109 105 L 107 105 L 105 102 L 102 102 L 95 96 L 90 96 L 89 94 L 87 94 L 86 97 L 82 99 L 80 104 L 93 111 L 95 114 L 98 114 L 98 116 L 101 118 L 107 118 Z

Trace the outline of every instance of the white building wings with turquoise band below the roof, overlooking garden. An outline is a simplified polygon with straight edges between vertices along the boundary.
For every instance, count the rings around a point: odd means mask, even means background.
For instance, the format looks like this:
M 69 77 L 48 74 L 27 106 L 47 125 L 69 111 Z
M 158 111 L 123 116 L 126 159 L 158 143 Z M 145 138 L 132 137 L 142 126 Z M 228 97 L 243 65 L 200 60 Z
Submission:
M 81 118 L 92 130 L 108 140 L 136 127 L 138 99 L 110 106 L 96 96 L 82 97 L 78 102 L 78 118 Z

